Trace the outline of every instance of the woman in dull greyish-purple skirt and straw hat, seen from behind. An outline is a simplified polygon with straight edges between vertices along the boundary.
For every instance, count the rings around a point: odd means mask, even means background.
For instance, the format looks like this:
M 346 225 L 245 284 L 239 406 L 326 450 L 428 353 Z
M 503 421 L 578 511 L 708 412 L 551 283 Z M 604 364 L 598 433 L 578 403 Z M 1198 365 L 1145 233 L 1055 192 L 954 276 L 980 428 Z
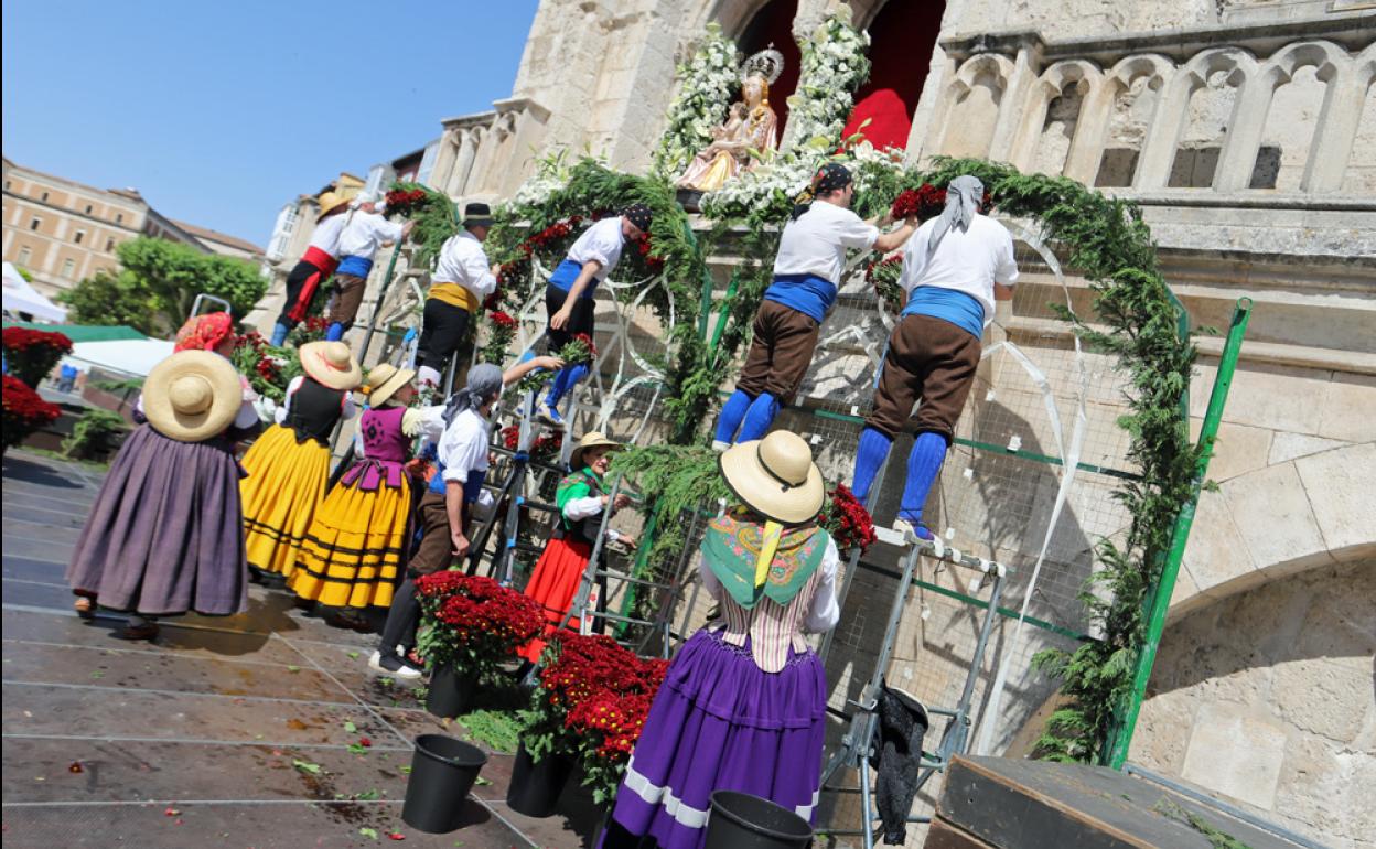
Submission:
M 248 603 L 239 464 L 257 429 L 234 366 L 213 350 L 173 354 L 149 373 L 129 433 L 67 567 L 76 610 L 124 611 L 116 636 L 151 640 L 153 616 L 223 616 Z

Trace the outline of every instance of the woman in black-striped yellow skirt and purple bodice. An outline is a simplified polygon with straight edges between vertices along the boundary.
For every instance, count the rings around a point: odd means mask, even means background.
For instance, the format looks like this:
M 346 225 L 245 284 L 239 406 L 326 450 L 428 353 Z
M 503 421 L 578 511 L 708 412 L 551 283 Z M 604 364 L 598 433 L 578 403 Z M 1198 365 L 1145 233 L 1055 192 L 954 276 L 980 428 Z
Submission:
M 406 406 L 416 396 L 414 377 L 389 363 L 369 372 L 363 391 L 372 409 L 358 425 L 363 458 L 315 511 L 288 581 L 303 600 L 333 608 L 326 612 L 332 625 L 366 629 L 363 611 L 392 603 L 411 516 L 405 464 L 425 416 Z

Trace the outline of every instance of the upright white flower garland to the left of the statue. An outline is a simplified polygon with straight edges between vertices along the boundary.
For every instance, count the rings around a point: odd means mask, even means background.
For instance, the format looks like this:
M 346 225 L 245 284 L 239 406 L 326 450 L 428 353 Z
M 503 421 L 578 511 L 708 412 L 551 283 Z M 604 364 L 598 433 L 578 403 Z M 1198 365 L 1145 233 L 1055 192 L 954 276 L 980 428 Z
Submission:
M 654 153 L 654 172 L 669 179 L 684 172 L 694 155 L 711 143 L 711 129 L 725 121 L 731 95 L 740 85 L 740 51 L 711 22 L 698 51 L 676 76 L 678 95 L 669 105 L 669 127 Z

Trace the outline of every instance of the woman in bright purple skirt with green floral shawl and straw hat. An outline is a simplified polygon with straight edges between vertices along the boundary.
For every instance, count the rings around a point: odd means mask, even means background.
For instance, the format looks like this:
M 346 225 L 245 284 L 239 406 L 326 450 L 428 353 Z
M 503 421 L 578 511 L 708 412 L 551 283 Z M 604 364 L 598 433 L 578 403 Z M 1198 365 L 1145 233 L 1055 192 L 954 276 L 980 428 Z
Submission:
M 827 678 L 804 632 L 837 625 L 837 546 L 808 443 L 775 431 L 721 455 L 740 505 L 716 519 L 700 571 L 721 618 L 684 644 L 649 709 L 604 849 L 696 849 L 711 794 L 736 790 L 810 820 Z

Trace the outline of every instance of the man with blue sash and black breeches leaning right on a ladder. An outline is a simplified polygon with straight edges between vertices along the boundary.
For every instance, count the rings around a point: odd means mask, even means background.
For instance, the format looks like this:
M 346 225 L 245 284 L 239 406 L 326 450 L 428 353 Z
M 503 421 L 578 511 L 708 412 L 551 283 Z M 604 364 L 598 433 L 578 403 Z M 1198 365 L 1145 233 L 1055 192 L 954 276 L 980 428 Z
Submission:
M 589 227 L 568 249 L 568 256 L 549 275 L 545 286 L 545 311 L 549 314 L 545 345 L 549 354 L 559 354 L 575 336 L 592 337 L 597 283 L 607 279 L 621 261 L 627 239 L 636 241 L 649 233 L 652 219 L 649 206 L 632 204 L 619 216 L 603 219 Z M 559 402 L 586 376 L 586 363 L 574 363 L 555 376 L 545 403 L 537 410 L 545 424 L 564 427 Z

